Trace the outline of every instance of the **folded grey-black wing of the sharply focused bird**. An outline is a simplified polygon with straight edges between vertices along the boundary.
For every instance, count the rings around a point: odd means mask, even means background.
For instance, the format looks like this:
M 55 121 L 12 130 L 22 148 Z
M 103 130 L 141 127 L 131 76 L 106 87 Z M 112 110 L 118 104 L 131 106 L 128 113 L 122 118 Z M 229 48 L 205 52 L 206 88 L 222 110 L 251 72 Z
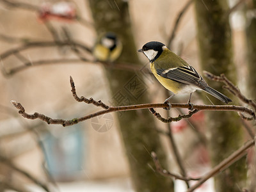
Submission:
M 192 66 L 182 66 L 168 69 L 156 68 L 156 72 L 159 76 L 177 81 L 183 84 L 191 84 L 204 89 L 208 86 L 202 76 L 196 72 Z

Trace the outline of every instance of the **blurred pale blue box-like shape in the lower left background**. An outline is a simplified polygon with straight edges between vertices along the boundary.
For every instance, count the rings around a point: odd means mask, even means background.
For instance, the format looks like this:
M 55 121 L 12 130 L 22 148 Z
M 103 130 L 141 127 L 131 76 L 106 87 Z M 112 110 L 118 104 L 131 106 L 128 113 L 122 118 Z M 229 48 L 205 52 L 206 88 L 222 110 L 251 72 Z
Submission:
M 81 176 L 84 167 L 84 128 L 79 125 L 63 128 L 60 134 L 44 134 L 47 169 L 58 181 L 74 180 Z

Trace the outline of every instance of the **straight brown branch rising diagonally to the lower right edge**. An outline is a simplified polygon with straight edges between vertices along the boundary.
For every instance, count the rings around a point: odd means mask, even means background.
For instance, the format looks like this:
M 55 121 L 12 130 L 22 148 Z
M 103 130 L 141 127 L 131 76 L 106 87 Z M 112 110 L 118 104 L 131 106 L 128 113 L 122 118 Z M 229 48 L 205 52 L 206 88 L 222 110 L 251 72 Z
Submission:
M 206 180 L 210 179 L 211 177 L 213 177 L 217 173 L 220 173 L 221 171 L 223 171 L 223 169 L 225 167 L 227 168 L 227 165 L 233 164 L 236 161 L 238 161 L 241 157 L 244 156 L 244 152 L 246 152 L 246 150 L 248 148 L 253 147 L 253 145 L 255 145 L 255 139 L 254 140 L 250 140 L 247 143 L 245 143 L 243 145 L 243 147 L 237 149 L 229 157 L 227 157 L 226 159 L 221 161 L 221 163 L 219 163 L 217 166 L 212 168 L 212 170 L 210 172 L 208 172 L 207 174 L 204 175 L 204 177 L 202 177 L 200 180 L 198 180 L 198 182 L 194 186 L 189 188 L 187 192 L 194 191 L 196 188 L 201 186 Z

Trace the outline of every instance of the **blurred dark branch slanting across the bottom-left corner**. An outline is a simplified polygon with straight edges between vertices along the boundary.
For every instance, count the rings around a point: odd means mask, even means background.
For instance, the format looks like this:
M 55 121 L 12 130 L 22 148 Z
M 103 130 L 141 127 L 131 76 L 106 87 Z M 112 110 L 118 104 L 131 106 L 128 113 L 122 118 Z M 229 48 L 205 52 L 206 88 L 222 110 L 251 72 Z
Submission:
M 33 175 L 26 172 L 25 170 L 22 170 L 21 168 L 17 167 L 15 164 L 12 163 L 12 161 L 10 161 L 10 159 L 2 156 L 1 154 L 0 154 L 0 162 L 4 163 L 4 164 L 6 164 L 6 166 L 12 168 L 13 170 L 15 170 L 15 172 L 18 172 L 18 173 L 24 175 L 26 178 L 33 181 L 37 186 L 40 186 L 40 188 L 43 188 L 45 191 L 50 192 L 47 184 L 45 184 L 41 180 L 36 179 Z

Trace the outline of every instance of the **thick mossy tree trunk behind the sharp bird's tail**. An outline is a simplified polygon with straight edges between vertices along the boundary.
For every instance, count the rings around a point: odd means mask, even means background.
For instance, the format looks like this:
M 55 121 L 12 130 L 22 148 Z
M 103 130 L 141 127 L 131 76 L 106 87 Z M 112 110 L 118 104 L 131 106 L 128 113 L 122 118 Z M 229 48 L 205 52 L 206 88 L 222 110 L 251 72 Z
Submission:
M 202 68 L 216 75 L 224 73 L 236 84 L 236 68 L 232 61 L 231 29 L 226 15 L 227 1 L 196 0 L 195 10 Z M 212 81 L 209 84 L 212 88 L 228 95 L 227 91 L 221 88 L 222 84 Z M 209 95 L 207 97 L 214 104 L 223 104 Z M 232 98 L 232 100 L 235 99 Z M 205 99 L 205 102 L 211 104 L 208 99 Z M 209 150 L 212 166 L 214 166 L 243 145 L 243 129 L 241 129 L 239 116 L 227 111 L 207 112 L 207 125 L 210 136 Z M 246 182 L 245 157 L 214 179 L 216 191 L 241 191 Z

